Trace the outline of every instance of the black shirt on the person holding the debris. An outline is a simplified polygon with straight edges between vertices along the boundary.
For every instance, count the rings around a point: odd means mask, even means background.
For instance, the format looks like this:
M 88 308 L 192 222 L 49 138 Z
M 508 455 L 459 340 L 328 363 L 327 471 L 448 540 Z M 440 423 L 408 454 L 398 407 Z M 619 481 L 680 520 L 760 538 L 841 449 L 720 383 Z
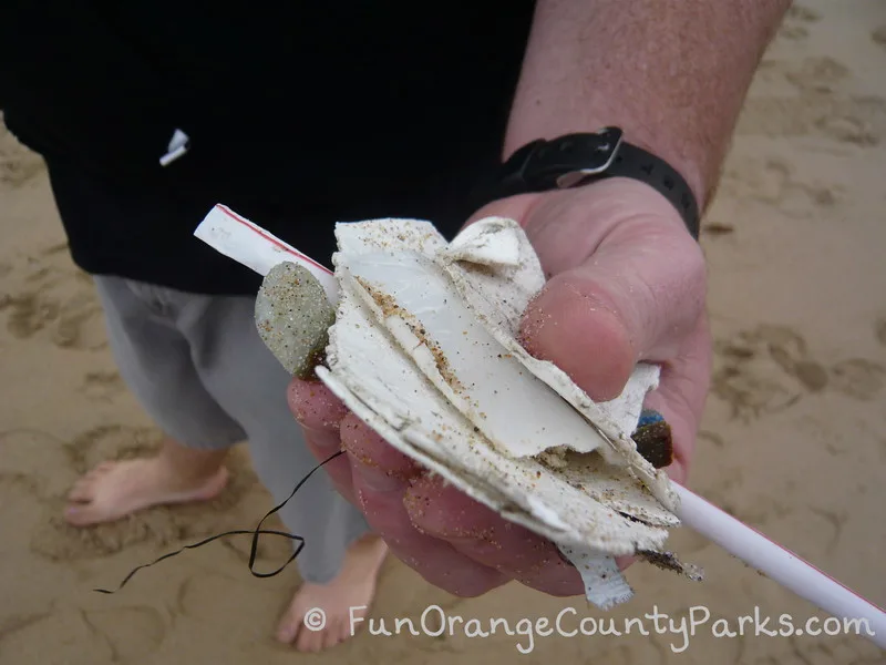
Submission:
M 334 222 L 451 237 L 485 203 L 533 6 L 13 0 L 0 106 L 44 156 L 81 268 L 255 294 L 193 236 L 216 203 L 327 265 Z M 162 166 L 175 130 L 189 150 Z

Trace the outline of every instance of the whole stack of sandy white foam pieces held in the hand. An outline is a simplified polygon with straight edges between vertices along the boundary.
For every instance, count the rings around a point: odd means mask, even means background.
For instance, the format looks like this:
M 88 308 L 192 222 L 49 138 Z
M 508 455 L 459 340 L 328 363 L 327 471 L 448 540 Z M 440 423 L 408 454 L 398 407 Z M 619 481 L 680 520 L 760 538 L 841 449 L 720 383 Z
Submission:
M 516 342 L 544 276 L 509 219 L 449 245 L 410 219 L 336 235 L 340 298 L 318 377 L 391 446 L 557 543 L 591 602 L 630 597 L 612 557 L 663 552 L 679 524 L 667 475 L 630 439 L 657 368 L 638 367 L 622 396 L 596 405 Z

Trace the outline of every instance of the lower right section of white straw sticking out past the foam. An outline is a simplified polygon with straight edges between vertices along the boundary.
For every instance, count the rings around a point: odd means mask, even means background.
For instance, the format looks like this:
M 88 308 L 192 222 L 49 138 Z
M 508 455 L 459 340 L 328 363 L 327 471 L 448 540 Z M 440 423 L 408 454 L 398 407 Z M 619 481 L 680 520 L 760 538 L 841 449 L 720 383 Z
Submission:
M 674 489 L 678 516 L 687 526 L 832 616 L 866 618 L 862 635 L 886 648 L 886 612 L 698 494 L 676 483 Z

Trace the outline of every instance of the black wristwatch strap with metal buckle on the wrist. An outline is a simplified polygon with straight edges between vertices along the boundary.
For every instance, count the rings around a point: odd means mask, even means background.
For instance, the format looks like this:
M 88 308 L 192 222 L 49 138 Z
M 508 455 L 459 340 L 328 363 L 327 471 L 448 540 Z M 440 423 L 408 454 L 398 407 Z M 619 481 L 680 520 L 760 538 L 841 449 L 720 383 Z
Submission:
M 496 180 L 496 197 L 586 185 L 607 177 L 630 177 L 651 185 L 678 209 L 693 238 L 699 238 L 699 209 L 683 177 L 667 162 L 622 140 L 618 127 L 596 133 L 539 139 L 505 162 Z

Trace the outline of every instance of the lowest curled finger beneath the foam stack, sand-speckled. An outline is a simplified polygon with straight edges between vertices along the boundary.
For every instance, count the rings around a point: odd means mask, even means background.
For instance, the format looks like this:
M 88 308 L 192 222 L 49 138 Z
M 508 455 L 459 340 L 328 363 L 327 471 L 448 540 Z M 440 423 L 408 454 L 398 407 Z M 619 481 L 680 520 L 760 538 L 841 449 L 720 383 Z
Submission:
M 552 595 L 575 595 L 578 571 L 550 541 L 507 522 L 440 479 L 423 477 L 406 490 L 406 510 L 423 532 L 508 577 Z

